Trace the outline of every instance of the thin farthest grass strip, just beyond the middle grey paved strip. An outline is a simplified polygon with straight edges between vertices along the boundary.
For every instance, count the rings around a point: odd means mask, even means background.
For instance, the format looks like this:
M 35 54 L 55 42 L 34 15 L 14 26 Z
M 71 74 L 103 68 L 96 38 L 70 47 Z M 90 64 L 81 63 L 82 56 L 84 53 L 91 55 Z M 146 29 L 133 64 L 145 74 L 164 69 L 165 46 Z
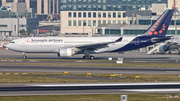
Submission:
M 180 63 L 0 63 L 0 65 L 44 65 L 44 66 L 100 66 L 100 67 L 156 67 L 180 68 Z

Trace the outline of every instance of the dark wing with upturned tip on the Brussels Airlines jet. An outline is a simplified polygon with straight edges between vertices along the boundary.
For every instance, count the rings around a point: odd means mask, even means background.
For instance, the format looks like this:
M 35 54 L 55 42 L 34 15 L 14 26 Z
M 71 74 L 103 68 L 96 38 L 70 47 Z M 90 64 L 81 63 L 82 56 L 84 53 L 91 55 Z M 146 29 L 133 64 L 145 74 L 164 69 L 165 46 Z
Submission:
M 109 44 L 113 44 L 116 42 L 120 42 L 123 37 L 120 37 L 116 41 L 111 41 L 111 42 L 101 42 L 101 43 L 92 43 L 92 44 L 84 44 L 84 45 L 77 45 L 75 48 L 78 48 L 80 50 L 97 50 L 101 48 L 108 47 Z

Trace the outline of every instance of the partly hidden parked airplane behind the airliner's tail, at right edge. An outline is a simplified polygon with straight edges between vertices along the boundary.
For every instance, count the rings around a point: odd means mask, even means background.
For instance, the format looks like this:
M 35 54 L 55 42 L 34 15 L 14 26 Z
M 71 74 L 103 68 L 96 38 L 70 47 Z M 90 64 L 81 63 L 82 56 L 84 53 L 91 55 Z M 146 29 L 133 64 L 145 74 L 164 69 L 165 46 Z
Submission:
M 176 49 L 178 51 L 178 55 L 180 55 L 180 37 L 173 36 L 170 40 L 163 42 L 153 49 L 151 49 L 147 54 L 164 54 L 168 52 L 171 54 L 171 51 Z

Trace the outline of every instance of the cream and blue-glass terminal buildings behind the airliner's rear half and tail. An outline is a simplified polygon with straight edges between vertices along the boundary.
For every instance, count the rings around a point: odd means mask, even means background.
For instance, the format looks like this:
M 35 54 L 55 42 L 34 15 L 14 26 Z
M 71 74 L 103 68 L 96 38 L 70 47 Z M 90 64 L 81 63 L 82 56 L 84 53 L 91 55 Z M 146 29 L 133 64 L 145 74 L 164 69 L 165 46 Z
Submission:
M 61 34 L 141 34 L 172 5 L 172 0 L 61 0 Z M 167 34 L 178 35 L 179 28 L 180 16 L 173 17 Z

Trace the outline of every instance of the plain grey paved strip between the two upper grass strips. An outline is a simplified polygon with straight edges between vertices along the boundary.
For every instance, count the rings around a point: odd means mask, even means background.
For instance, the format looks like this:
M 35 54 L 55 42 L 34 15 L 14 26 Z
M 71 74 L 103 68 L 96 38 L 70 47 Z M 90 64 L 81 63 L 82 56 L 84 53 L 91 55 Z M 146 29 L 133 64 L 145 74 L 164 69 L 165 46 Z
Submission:
M 1 72 L 180 74 L 180 68 L 0 65 Z

